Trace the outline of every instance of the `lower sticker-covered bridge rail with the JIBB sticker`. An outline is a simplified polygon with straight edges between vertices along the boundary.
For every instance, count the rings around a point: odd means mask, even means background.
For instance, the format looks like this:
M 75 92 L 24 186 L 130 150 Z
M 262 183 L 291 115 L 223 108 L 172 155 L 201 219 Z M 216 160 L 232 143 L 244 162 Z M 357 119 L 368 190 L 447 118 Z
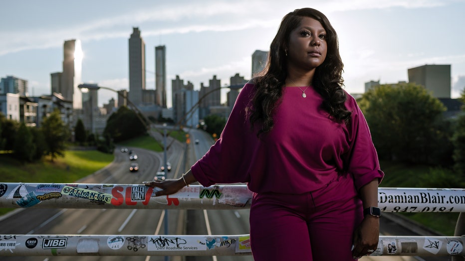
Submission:
M 371 256 L 464 255 L 463 240 L 461 237 L 380 236 L 378 247 Z M 0 235 L 0 256 L 83 254 L 236 256 L 250 255 L 251 250 L 249 235 Z

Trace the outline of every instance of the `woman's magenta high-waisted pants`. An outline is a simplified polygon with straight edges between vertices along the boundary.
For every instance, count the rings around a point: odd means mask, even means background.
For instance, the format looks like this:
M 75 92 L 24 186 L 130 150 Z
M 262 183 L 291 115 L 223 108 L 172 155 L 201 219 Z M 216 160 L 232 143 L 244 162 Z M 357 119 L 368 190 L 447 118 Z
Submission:
M 363 206 L 350 175 L 304 194 L 259 193 L 250 207 L 254 261 L 354 261 Z

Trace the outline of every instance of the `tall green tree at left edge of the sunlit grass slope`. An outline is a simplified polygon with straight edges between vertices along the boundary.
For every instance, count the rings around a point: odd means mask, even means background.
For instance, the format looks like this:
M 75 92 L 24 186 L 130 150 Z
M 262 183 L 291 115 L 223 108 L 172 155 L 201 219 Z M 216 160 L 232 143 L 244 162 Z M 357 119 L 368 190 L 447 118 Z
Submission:
M 50 155 L 51 161 L 53 162 L 57 156 L 64 156 L 69 131 L 61 120 L 58 110 L 54 110 L 42 121 L 42 132 L 47 143 L 45 154 Z

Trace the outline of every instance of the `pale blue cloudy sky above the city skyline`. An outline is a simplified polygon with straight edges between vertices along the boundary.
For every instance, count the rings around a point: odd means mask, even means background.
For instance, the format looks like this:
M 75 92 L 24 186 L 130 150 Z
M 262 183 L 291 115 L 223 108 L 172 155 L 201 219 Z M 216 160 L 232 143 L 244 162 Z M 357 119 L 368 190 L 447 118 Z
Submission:
M 251 78 L 251 55 L 268 51 L 282 17 L 296 8 L 323 12 L 339 37 L 345 90 L 364 83 L 408 81 L 407 70 L 450 64 L 452 98 L 465 88 L 465 0 L 22 0 L 2 1 L 0 77 L 28 81 L 29 96 L 50 94 L 61 72 L 63 43 L 82 44 L 82 82 L 114 90 L 129 86 L 129 37 L 146 44 L 146 89 L 155 89 L 155 46 L 166 46 L 171 80 L 200 90 L 216 75 Z M 226 91 L 226 90 L 224 90 Z M 116 93 L 99 91 L 99 105 Z

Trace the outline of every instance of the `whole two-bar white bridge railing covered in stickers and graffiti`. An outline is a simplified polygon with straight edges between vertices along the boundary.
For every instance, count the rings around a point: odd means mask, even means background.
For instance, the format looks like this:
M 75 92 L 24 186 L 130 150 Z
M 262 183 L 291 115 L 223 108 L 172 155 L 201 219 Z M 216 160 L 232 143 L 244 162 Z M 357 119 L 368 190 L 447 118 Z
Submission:
M 155 197 L 143 184 L 0 183 L 1 208 L 245 209 L 245 185 L 191 185 Z M 383 212 L 461 212 L 456 233 L 380 236 L 371 256 L 464 257 L 465 189 L 379 188 Z M 0 256 L 240 256 L 249 235 L 0 235 Z

